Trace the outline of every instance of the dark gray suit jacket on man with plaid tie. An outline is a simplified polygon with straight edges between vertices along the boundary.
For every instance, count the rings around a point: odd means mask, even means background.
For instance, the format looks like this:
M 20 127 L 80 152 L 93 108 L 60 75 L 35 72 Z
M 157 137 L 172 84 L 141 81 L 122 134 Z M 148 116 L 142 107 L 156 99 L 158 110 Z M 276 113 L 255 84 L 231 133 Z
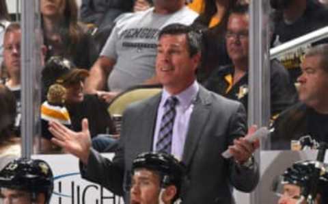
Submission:
M 152 151 L 160 101 L 158 94 L 128 107 L 123 117 L 120 151 L 111 162 L 92 150 L 83 177 L 124 194 L 126 184 L 122 183 L 129 183 L 133 159 L 139 153 Z M 194 105 L 182 155 L 188 174 L 182 183 L 183 203 L 234 203 L 232 186 L 250 192 L 259 176 L 257 166 L 248 169 L 221 157 L 234 138 L 245 135 L 245 109 L 241 103 L 202 87 Z

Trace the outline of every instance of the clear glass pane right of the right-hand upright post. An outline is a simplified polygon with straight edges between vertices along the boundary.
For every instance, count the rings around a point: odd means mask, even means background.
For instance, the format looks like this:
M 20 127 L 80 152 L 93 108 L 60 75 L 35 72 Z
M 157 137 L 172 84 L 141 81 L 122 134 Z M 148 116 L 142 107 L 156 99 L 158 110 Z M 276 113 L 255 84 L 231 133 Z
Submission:
M 320 81 L 327 81 L 325 66 L 321 64 L 325 63 L 322 59 L 327 56 L 325 46 L 319 45 L 327 43 L 327 6 L 317 1 L 286 4 L 271 1 L 271 5 L 271 61 L 284 66 L 290 82 L 290 86 L 283 88 L 279 86 L 282 83 L 271 80 L 271 92 L 282 93 L 284 99 L 277 102 L 285 104 L 272 118 L 275 131 L 271 136 L 271 149 L 316 149 L 318 142 L 327 142 L 327 131 L 318 130 L 320 124 L 328 121 L 325 112 L 328 106 L 323 99 L 326 93 L 320 92 L 320 87 L 326 83 Z M 299 10 L 295 10 L 296 7 Z M 306 51 L 310 51 L 308 57 Z M 312 73 L 308 72 L 309 69 Z M 316 75 L 318 78 L 312 78 Z M 312 83 L 316 85 L 309 88 Z M 309 98 L 309 94 L 312 97 Z M 275 99 L 277 97 L 271 95 L 271 103 Z

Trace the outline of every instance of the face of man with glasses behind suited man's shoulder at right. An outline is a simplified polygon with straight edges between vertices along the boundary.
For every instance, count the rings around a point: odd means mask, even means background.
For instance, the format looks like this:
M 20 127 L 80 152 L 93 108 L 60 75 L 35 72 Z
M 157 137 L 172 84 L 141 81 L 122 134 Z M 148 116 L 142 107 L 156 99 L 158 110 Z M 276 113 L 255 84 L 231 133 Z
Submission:
M 248 15 L 231 14 L 226 33 L 226 47 L 233 63 L 248 62 Z

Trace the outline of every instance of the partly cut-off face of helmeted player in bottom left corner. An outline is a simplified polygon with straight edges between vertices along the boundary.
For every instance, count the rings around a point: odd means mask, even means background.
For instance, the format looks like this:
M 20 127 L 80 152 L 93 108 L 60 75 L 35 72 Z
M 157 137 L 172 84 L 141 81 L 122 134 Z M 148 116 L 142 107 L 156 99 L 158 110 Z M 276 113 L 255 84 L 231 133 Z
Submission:
M 31 204 L 29 192 L 23 190 L 12 190 L 2 188 L 0 193 L 0 203 L 3 204 Z

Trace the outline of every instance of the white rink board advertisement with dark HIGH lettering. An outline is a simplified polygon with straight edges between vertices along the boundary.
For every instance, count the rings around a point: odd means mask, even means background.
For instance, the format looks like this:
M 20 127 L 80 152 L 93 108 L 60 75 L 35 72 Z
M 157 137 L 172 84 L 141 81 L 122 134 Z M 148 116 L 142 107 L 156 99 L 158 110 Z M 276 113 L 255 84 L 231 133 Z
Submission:
M 113 157 L 113 154 L 105 154 Z M 55 185 L 50 204 L 118 204 L 119 196 L 96 183 L 81 178 L 79 160 L 72 155 L 33 155 L 45 160 L 53 169 Z

